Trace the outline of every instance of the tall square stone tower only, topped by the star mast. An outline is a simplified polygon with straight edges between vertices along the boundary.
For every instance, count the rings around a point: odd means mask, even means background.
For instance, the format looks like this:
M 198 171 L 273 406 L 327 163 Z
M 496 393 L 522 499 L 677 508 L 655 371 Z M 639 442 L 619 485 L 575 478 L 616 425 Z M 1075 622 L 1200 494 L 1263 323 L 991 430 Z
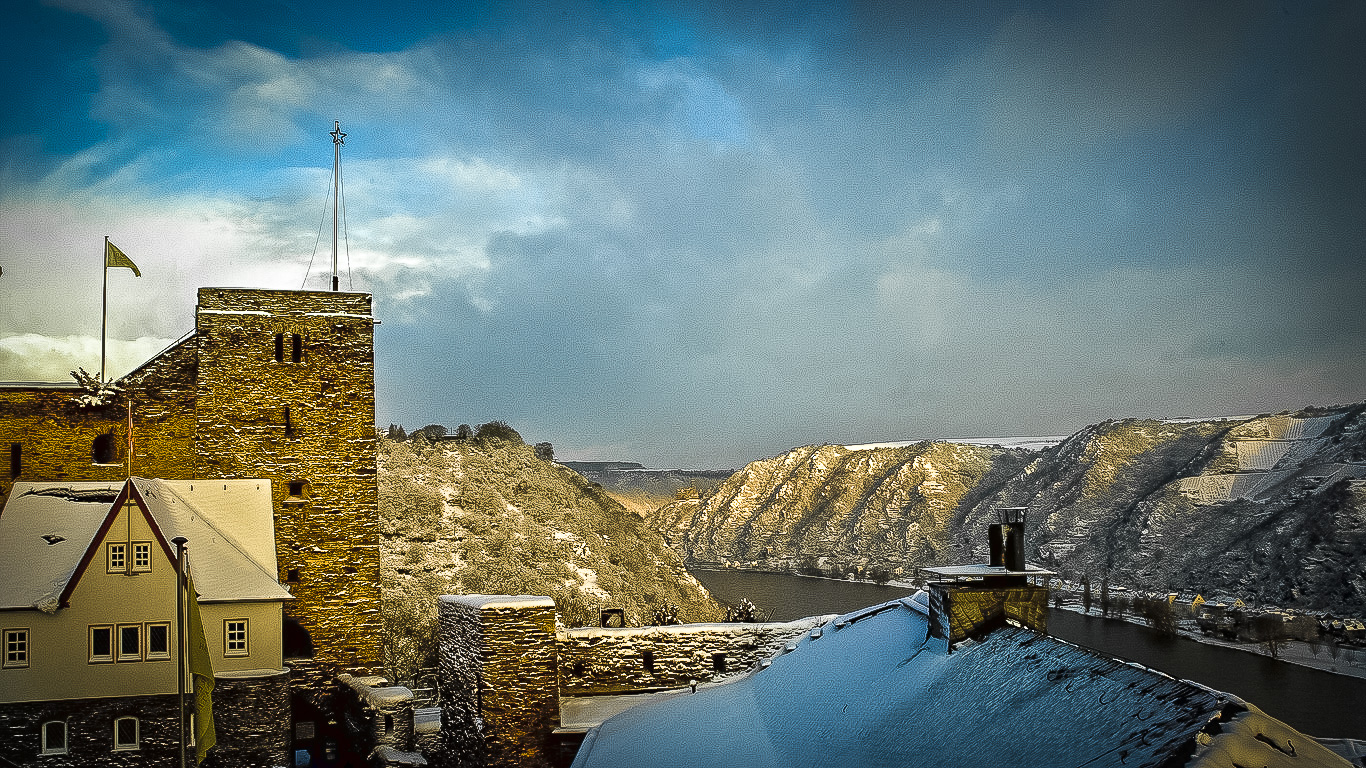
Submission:
M 199 288 L 198 299 L 194 476 L 272 481 L 280 581 L 295 596 L 287 645 L 333 668 L 374 668 L 370 295 Z

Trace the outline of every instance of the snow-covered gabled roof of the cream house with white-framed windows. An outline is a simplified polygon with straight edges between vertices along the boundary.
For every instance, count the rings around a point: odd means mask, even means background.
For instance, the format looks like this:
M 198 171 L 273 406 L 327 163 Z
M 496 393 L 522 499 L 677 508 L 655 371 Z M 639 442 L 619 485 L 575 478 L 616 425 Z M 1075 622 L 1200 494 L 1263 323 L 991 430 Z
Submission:
M 175 537 L 190 541 L 190 571 L 201 601 L 291 599 L 276 581 L 270 481 L 135 477 L 16 482 L 0 512 L 0 609 L 64 607 L 130 496 L 168 560 L 175 562 Z

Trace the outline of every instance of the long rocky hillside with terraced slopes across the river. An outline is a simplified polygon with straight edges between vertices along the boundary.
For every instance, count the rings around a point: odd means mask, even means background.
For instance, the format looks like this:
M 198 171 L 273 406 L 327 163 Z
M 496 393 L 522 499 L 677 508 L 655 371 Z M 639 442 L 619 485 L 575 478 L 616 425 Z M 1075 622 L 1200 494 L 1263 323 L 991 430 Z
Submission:
M 910 577 L 986 559 L 997 507 L 1064 577 L 1366 608 L 1366 406 L 1111 421 L 1042 451 L 796 448 L 649 515 L 690 562 Z

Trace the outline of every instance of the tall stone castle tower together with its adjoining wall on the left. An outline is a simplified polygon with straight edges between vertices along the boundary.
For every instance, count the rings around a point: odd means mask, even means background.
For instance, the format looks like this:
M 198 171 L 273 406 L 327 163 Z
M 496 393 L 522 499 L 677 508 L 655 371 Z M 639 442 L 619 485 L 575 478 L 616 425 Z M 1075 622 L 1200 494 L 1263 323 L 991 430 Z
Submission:
M 377 667 L 370 295 L 201 288 L 194 332 L 119 384 L 97 404 L 71 383 L 0 384 L 0 504 L 18 480 L 270 480 L 287 653 Z

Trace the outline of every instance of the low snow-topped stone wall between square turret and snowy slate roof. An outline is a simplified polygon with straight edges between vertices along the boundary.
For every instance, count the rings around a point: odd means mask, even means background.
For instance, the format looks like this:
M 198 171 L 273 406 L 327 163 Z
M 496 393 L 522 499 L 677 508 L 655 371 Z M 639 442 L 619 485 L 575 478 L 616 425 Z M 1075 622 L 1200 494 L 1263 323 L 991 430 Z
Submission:
M 743 672 L 821 623 L 821 618 L 809 618 L 781 623 L 561 630 L 560 694 L 638 693 Z

